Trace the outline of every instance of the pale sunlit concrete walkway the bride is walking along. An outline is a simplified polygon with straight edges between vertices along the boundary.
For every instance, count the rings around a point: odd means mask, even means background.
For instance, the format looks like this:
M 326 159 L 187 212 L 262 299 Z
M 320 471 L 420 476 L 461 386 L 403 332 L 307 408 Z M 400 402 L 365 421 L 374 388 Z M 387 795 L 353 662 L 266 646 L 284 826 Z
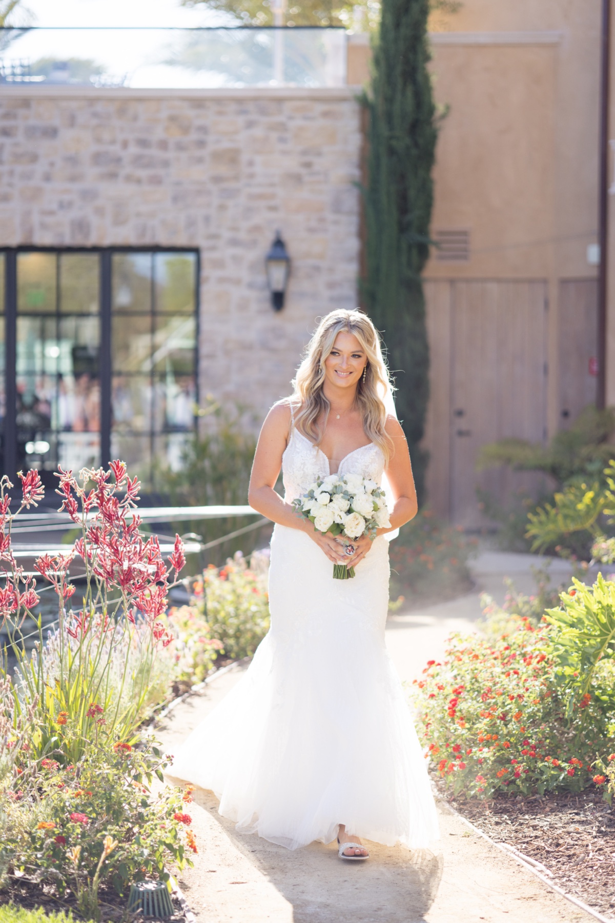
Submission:
M 389 619 L 386 642 L 403 679 L 419 676 L 444 653 L 451 630 L 472 630 L 478 591 L 498 591 L 505 573 L 531 589 L 529 556 L 479 557 L 477 592 Z M 534 560 L 530 558 L 530 562 Z M 561 566 L 561 565 L 559 565 Z M 513 569 L 516 572 L 513 573 Z M 562 580 L 565 580 L 562 575 Z M 524 586 L 521 587 L 522 581 Z M 172 753 L 242 676 L 238 667 L 191 696 L 160 727 Z M 370 844 L 371 859 L 350 865 L 334 845 L 290 852 L 256 836 L 235 833 L 219 817 L 216 798 L 201 789 L 190 806 L 199 854 L 180 884 L 199 920 L 207 923 L 538 923 L 592 917 L 553 893 L 514 859 L 467 829 L 440 803 L 442 840 L 436 855 Z

